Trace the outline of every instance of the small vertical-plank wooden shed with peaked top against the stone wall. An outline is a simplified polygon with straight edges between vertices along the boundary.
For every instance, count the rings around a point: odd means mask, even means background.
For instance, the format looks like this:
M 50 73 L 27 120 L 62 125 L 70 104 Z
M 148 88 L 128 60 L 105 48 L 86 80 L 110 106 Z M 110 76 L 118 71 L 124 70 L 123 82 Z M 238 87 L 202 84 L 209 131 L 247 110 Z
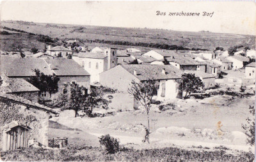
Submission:
M 28 126 L 17 121 L 10 122 L 4 126 L 3 151 L 23 149 L 28 147 Z

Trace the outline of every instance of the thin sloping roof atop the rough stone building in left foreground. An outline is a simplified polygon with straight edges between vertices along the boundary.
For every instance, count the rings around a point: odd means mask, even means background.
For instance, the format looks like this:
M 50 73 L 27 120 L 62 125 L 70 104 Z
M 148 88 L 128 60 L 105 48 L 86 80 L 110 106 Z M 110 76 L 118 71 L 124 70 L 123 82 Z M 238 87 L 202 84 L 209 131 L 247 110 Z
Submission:
M 59 114 L 58 112 L 56 112 L 55 110 L 52 110 L 49 107 L 45 107 L 44 105 L 40 105 L 39 103 L 34 103 L 32 101 L 29 101 L 28 99 L 25 99 L 25 98 L 22 98 L 22 97 L 13 95 L 13 94 L 6 94 L 6 93 L 0 92 L 0 98 L 7 100 L 7 101 L 11 101 L 13 103 L 17 103 L 19 105 L 28 106 L 29 108 L 35 108 L 38 110 L 51 112 L 52 114 Z

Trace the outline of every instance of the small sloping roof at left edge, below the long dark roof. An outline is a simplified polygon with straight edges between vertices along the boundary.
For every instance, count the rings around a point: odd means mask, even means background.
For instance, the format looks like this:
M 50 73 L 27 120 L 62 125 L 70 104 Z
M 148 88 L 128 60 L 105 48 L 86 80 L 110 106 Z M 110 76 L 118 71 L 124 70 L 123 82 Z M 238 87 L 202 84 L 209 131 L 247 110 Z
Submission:
M 40 91 L 34 85 L 22 78 L 9 78 L 4 74 L 2 74 L 0 78 L 3 80 L 3 83 L 0 86 L 0 91 L 6 93 Z

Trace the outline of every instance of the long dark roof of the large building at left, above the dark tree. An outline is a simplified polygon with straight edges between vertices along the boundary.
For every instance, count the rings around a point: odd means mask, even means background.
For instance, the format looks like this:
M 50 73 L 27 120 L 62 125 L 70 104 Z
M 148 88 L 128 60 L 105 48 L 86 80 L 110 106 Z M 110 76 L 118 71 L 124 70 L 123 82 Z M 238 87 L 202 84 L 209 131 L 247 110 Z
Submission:
M 35 76 L 35 69 L 42 71 L 45 75 L 55 73 L 58 76 L 84 76 L 90 75 L 73 59 L 65 58 L 8 58 L 0 57 L 0 73 L 8 77 L 30 77 Z M 51 64 L 51 67 L 50 67 Z

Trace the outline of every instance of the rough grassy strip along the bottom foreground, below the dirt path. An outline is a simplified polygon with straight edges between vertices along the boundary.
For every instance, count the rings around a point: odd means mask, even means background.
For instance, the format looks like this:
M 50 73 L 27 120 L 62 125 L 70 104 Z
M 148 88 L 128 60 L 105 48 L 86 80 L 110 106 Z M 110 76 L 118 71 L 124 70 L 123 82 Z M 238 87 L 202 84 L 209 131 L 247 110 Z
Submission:
M 69 147 L 63 150 L 22 149 L 1 152 L 3 161 L 253 161 L 252 152 L 229 154 L 225 150 L 185 150 L 177 147 L 163 149 L 120 149 L 106 154 L 100 147 Z

